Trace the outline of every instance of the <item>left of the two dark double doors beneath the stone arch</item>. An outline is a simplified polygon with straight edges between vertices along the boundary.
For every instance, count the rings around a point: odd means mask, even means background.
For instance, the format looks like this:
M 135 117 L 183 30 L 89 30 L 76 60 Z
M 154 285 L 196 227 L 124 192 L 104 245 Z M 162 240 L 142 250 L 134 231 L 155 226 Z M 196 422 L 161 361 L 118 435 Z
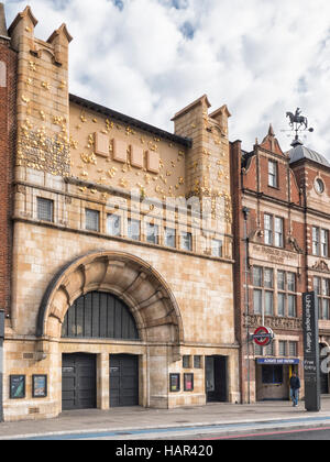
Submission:
M 97 405 L 96 356 L 94 354 L 63 354 L 62 408 L 94 409 Z

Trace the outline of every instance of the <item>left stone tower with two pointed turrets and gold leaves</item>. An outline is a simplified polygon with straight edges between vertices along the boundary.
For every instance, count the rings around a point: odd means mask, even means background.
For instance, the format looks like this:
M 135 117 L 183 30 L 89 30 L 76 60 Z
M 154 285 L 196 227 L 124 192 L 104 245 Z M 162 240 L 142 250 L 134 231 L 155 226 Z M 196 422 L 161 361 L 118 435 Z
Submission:
M 16 166 L 67 176 L 70 169 L 68 134 L 68 44 L 66 25 L 47 42 L 34 37 L 37 20 L 26 7 L 9 29 L 18 52 Z

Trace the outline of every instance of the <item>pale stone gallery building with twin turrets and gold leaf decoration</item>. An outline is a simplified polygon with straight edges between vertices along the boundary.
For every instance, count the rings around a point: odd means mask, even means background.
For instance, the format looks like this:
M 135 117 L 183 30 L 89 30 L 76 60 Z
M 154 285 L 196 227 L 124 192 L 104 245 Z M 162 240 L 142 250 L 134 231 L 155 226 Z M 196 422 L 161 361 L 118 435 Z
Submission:
M 18 56 L 6 420 L 240 402 L 226 106 L 175 134 L 68 92 L 63 24 Z M 111 92 L 111 89 L 109 89 Z

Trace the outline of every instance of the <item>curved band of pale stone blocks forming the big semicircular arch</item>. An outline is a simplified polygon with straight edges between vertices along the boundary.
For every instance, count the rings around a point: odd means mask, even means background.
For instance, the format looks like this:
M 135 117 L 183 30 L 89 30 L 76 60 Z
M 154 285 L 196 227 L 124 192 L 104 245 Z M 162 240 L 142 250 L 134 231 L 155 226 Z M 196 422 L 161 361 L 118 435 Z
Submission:
M 61 270 L 42 300 L 37 337 L 61 338 L 69 307 L 95 290 L 112 293 L 129 306 L 141 340 L 184 341 L 179 308 L 164 278 L 143 260 L 119 252 L 90 253 Z

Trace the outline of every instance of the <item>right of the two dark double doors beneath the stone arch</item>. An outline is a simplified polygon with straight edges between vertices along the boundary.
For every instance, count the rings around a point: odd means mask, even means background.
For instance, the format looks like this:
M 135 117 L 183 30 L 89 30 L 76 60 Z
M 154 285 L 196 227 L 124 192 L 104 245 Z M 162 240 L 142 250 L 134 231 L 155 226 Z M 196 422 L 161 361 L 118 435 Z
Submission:
M 110 407 L 139 406 L 139 356 L 111 354 Z

